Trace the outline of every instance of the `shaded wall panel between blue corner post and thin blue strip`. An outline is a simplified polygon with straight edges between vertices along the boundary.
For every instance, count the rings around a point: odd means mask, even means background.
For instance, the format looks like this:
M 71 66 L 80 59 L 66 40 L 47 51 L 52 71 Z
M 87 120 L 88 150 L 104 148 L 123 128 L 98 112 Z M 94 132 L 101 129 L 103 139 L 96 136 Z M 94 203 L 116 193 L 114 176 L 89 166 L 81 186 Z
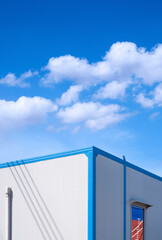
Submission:
M 96 158 L 96 240 L 123 239 L 123 165 Z

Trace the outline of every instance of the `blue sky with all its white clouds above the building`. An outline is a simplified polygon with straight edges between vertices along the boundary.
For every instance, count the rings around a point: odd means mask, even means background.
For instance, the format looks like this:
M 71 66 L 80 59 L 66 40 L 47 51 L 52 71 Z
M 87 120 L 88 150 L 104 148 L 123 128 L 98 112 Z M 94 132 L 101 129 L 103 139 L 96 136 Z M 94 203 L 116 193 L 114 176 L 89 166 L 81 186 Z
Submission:
M 95 145 L 162 175 L 160 1 L 1 1 L 0 161 Z

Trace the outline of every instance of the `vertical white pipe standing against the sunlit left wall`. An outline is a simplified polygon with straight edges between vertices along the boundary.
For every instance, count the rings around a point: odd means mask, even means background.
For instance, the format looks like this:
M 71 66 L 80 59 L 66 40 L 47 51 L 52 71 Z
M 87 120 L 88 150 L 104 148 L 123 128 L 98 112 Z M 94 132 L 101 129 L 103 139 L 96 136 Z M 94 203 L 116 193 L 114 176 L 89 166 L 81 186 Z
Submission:
M 12 189 L 6 188 L 6 240 L 12 240 Z

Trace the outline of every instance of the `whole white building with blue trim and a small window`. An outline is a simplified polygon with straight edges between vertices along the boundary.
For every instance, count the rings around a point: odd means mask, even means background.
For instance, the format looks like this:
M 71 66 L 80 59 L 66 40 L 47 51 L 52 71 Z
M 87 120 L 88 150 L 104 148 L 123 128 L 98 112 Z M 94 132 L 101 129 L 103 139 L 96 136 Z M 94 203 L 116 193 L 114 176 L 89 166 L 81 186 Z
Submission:
M 162 178 L 96 147 L 0 165 L 0 240 L 161 240 L 161 222 Z

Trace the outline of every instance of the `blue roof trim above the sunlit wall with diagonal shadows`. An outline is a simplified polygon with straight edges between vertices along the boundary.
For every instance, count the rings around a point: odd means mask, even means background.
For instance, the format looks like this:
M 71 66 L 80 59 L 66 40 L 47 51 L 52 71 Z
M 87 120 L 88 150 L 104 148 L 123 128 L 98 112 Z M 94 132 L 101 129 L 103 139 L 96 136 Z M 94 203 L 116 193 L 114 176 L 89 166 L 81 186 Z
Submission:
M 61 157 L 68 157 L 68 156 L 77 155 L 77 154 L 87 155 L 88 152 L 92 151 L 92 150 L 93 150 L 93 147 L 90 147 L 90 148 L 83 148 L 83 149 L 78 149 L 75 151 L 56 153 L 56 154 L 51 154 L 51 155 L 46 155 L 46 156 L 41 156 L 41 157 L 21 159 L 21 160 L 17 160 L 17 161 L 10 161 L 10 162 L 6 162 L 6 163 L 1 163 L 0 169 L 8 168 L 9 165 L 18 166 L 18 165 L 22 165 L 22 164 L 35 163 L 35 162 L 40 162 L 40 161 L 45 161 L 45 160 L 50 160 L 50 159 L 55 159 L 55 158 L 61 158 Z

